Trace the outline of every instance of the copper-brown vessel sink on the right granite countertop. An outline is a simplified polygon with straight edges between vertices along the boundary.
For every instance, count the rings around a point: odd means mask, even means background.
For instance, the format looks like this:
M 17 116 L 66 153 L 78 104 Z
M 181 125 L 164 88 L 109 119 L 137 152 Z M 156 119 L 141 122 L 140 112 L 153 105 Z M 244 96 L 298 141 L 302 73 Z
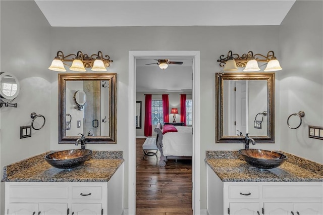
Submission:
M 287 160 L 285 154 L 262 149 L 240 149 L 239 154 L 250 166 L 259 169 L 273 169 Z

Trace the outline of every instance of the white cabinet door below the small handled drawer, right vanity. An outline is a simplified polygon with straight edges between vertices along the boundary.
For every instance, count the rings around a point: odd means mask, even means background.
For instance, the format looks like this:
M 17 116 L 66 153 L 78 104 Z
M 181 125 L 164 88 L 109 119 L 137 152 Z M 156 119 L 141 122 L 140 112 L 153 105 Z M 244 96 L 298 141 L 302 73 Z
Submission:
M 230 203 L 230 215 L 260 215 L 258 202 Z

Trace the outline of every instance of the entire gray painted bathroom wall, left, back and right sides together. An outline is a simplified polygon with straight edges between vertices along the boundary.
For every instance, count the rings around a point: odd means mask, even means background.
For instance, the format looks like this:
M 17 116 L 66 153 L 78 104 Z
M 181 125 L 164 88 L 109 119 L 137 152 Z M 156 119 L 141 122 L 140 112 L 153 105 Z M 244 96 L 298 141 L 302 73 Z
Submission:
M 253 50 L 262 54 L 274 50 L 284 69 L 276 73 L 276 142 L 256 147 L 283 149 L 323 162 L 323 145 L 307 137 L 306 127 L 307 124 L 321 125 L 323 118 L 321 2 L 297 1 L 282 26 L 251 27 L 50 27 L 32 1 L 1 1 L 1 4 L 1 69 L 12 72 L 21 82 L 19 108 L 1 109 L 1 169 L 49 149 L 76 147 L 57 143 L 58 73 L 47 68 L 58 50 L 66 54 L 101 50 L 114 61 L 108 72 L 118 74 L 117 144 L 89 147 L 124 151 L 125 208 L 128 207 L 128 155 L 133 153 L 128 151 L 128 144 L 133 144 L 128 143 L 127 125 L 129 50 L 200 51 L 201 208 L 206 208 L 205 150 L 242 148 L 241 144 L 214 144 L 214 73 L 221 71 L 216 60 L 229 50 L 236 53 Z M 287 129 L 288 115 L 299 110 L 306 114 L 303 126 L 298 130 Z M 30 124 L 31 112 L 43 114 L 46 125 L 33 131 L 31 138 L 20 140 L 19 126 Z M 1 193 L 4 194 L 3 188 Z M 4 199 L 1 200 L 3 203 Z

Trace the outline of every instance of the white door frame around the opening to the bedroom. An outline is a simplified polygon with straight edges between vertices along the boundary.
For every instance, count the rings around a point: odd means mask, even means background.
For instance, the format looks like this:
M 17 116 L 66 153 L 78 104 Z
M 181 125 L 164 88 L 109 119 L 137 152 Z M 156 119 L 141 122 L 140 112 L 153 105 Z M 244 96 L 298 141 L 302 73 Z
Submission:
M 129 110 L 128 110 L 128 213 L 136 213 L 136 59 L 140 58 L 191 58 L 193 100 L 193 214 L 200 214 L 200 51 L 129 51 Z

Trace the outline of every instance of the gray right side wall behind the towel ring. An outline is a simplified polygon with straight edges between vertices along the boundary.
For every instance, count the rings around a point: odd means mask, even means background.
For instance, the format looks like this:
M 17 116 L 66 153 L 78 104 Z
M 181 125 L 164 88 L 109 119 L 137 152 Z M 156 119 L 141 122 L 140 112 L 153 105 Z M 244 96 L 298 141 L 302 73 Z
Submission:
M 282 108 L 276 123 L 281 125 L 277 140 L 282 150 L 319 163 L 323 163 L 323 141 L 308 138 L 308 125 L 323 126 L 322 11 L 322 1 L 296 1 L 280 26 L 278 56 L 284 70 L 277 73 Z M 305 112 L 301 127 L 289 129 L 288 116 L 299 111 Z

